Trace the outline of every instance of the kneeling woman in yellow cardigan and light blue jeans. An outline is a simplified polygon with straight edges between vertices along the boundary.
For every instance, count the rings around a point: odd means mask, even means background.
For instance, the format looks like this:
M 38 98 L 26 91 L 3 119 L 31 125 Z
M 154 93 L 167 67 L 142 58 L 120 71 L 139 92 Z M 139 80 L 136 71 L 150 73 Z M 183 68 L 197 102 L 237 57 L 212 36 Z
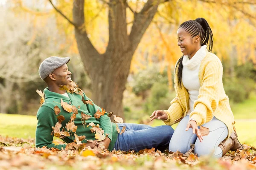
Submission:
M 175 99 L 165 111 L 150 116 L 166 125 L 180 121 L 169 144 L 169 151 L 186 153 L 195 144 L 198 156 L 224 156 L 228 150 L 243 149 L 237 139 L 234 116 L 222 84 L 222 64 L 212 54 L 213 34 L 204 18 L 182 23 L 177 31 L 183 56 L 175 66 Z M 208 50 L 207 50 L 208 48 Z M 209 128 L 202 136 L 199 126 Z M 224 140 L 225 139 L 225 140 Z

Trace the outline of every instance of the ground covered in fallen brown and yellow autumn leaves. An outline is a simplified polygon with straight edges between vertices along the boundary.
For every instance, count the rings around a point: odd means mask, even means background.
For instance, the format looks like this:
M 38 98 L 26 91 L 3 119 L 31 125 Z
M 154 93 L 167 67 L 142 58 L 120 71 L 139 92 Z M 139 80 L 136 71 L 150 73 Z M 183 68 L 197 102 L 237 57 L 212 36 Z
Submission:
M 244 145 L 244 150 L 227 153 L 221 159 L 198 158 L 189 152 L 161 153 L 154 148 L 121 152 L 100 148 L 83 150 L 56 150 L 35 148 L 34 139 L 0 136 L 0 170 L 74 169 L 74 170 L 250 170 L 256 169 L 256 148 Z

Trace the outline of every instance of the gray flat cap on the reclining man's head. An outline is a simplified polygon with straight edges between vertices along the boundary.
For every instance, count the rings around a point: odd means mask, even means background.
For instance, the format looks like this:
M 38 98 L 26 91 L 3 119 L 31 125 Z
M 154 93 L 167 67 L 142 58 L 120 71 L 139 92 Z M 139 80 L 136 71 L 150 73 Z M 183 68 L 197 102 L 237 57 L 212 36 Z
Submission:
M 39 75 L 44 80 L 49 74 L 51 74 L 56 68 L 67 64 L 70 61 L 70 57 L 48 57 L 39 66 Z

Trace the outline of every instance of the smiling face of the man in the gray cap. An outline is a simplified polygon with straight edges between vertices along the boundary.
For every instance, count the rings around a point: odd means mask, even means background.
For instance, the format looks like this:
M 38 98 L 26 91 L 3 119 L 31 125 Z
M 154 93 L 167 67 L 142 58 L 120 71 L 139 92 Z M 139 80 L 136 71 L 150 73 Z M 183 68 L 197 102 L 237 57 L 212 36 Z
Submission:
M 67 85 L 71 84 L 71 72 L 68 71 L 67 64 L 62 65 L 59 68 L 56 68 L 52 74 L 55 77 L 55 81 L 57 85 Z

